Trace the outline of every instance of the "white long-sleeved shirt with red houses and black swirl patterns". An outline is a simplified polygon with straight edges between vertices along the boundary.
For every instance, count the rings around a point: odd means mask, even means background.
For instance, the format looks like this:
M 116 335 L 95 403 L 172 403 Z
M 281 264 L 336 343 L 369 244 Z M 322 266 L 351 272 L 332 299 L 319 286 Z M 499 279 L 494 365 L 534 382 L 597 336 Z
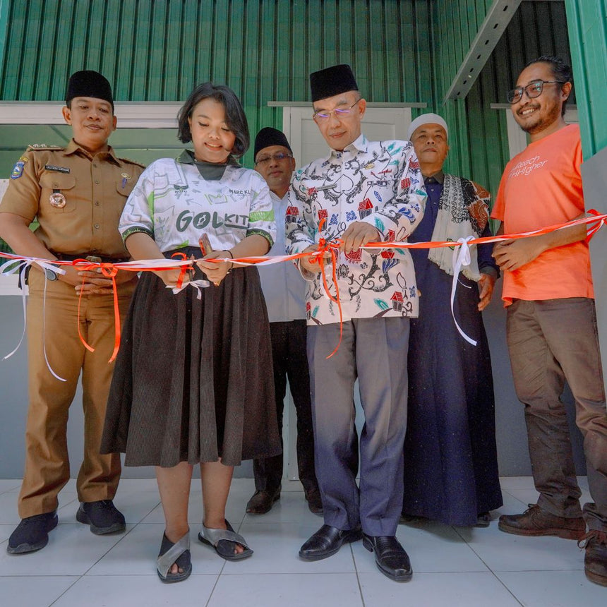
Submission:
M 343 152 L 332 150 L 294 174 L 287 208 L 287 253 L 301 253 L 320 238 L 336 241 L 353 222 L 366 222 L 380 241 L 404 241 L 423 216 L 426 191 L 413 144 L 367 141 L 361 135 Z M 321 229 L 322 227 L 322 229 Z M 308 281 L 308 325 L 339 322 L 337 303 L 325 293 L 320 274 Z M 406 249 L 339 253 L 337 286 L 343 320 L 416 317 L 415 272 Z M 332 268 L 325 277 L 335 297 Z

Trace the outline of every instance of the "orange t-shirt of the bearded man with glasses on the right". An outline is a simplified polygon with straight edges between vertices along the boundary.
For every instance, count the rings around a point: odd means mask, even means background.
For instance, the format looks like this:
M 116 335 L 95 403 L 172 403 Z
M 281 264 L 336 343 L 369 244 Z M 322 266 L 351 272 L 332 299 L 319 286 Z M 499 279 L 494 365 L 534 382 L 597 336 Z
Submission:
M 575 219 L 584 212 L 582 145 L 570 124 L 527 145 L 504 169 L 491 217 L 504 234 Z M 548 249 L 518 270 L 504 272 L 502 299 L 594 298 L 588 244 L 578 241 Z

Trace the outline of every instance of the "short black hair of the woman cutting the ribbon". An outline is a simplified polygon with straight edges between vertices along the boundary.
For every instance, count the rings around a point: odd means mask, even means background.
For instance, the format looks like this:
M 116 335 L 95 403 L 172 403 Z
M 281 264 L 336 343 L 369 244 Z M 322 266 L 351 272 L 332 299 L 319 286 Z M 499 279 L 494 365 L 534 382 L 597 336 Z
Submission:
M 214 99 L 222 104 L 226 112 L 226 124 L 236 136 L 234 148 L 230 155 L 241 157 L 244 155 L 250 145 L 248 135 L 248 123 L 244 114 L 244 109 L 236 93 L 226 85 L 215 85 L 212 82 L 205 82 L 198 85 L 188 96 L 186 102 L 181 106 L 177 114 L 179 131 L 177 136 L 182 143 L 188 143 L 192 140 L 190 124 L 188 118 L 191 118 L 194 108 L 205 99 Z

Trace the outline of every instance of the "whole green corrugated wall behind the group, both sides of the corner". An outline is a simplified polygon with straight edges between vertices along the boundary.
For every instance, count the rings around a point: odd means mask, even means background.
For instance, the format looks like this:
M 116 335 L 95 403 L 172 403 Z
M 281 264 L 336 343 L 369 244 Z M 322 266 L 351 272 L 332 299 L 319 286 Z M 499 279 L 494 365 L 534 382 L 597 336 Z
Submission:
M 451 132 L 447 168 L 495 193 L 507 136 L 503 113 L 490 104 L 503 102 L 530 59 L 569 54 L 563 2 L 524 1 L 467 98 L 442 106 L 492 4 L 0 0 L 0 25 L 8 23 L 0 96 L 60 100 L 66 76 L 81 68 L 102 71 L 118 100 L 183 100 L 195 83 L 210 79 L 236 90 L 255 133 L 281 126 L 281 110 L 268 101 L 306 101 L 309 72 L 347 62 L 369 101 L 427 102 L 443 114 Z M 244 161 L 251 165 L 250 152 Z

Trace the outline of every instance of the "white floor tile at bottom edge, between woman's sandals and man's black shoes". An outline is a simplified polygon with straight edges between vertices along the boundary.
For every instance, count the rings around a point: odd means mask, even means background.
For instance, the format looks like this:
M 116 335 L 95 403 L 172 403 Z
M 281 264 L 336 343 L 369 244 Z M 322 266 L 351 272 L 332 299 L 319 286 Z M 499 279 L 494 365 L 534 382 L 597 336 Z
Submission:
M 363 605 L 354 573 L 222 575 L 208 607 L 243 604 L 254 607 Z

